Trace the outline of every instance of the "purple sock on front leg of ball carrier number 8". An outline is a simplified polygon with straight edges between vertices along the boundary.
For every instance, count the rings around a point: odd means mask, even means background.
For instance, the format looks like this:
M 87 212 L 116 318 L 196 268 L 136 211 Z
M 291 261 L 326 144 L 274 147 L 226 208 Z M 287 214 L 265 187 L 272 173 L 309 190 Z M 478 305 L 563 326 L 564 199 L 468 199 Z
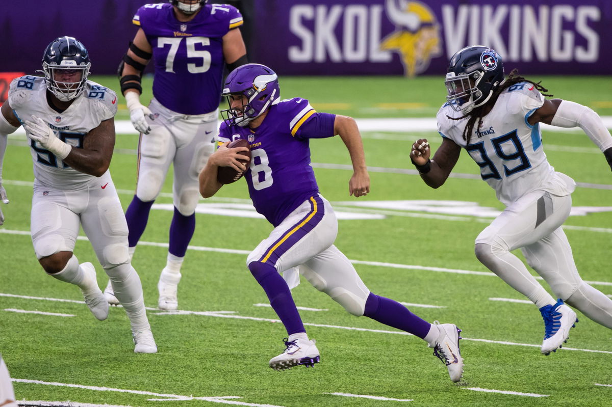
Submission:
M 251 262 L 248 265 L 248 270 L 251 271 L 253 277 L 266 292 L 270 305 L 285 325 L 287 334 L 306 332 L 304 324 L 302 324 L 302 318 L 297 312 L 296 303 L 293 302 L 291 290 L 274 266 L 261 262 Z

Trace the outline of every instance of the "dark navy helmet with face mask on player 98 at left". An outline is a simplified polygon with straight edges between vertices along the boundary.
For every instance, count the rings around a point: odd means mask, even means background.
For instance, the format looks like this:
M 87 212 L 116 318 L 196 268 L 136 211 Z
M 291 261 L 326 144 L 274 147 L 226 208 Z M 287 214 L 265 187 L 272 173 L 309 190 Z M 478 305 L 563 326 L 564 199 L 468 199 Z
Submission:
M 61 101 L 73 100 L 83 92 L 90 67 L 88 51 L 73 37 L 53 40 L 43 54 L 47 89 Z

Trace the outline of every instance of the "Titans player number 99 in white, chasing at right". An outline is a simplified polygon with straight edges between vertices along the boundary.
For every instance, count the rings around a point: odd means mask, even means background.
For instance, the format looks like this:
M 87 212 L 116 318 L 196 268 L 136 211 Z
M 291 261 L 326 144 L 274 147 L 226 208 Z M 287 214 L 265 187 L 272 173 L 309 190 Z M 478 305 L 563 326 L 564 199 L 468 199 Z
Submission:
M 548 163 L 539 123 L 580 127 L 612 167 L 612 136 L 592 109 L 547 99 L 540 82 L 512 71 L 501 56 L 481 45 L 455 53 L 445 84 L 447 102 L 438 111 L 442 145 L 430 160 L 427 139 L 412 144 L 411 160 L 432 188 L 442 186 L 465 149 L 482 180 L 506 205 L 476 238 L 476 257 L 539 309 L 544 320 L 540 351 L 550 354 L 567 342 L 576 313 L 612 329 L 612 299 L 583 281 L 562 224 L 570 214 L 576 183 Z M 513 250 L 550 285 L 557 299 L 529 273 Z

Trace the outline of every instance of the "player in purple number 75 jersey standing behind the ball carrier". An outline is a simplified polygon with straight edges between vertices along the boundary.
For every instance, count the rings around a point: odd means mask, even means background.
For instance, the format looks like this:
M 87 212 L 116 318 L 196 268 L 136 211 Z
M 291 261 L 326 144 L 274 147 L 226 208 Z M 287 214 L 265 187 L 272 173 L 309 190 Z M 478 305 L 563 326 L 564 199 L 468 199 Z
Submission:
M 195 230 L 198 174 L 214 151 L 223 69 L 247 62 L 237 29 L 242 16 L 231 5 L 172 0 L 140 7 L 133 23 L 140 29 L 119 68 L 130 119 L 141 132 L 136 194 L 125 212 L 130 255 L 172 163 L 174 216 L 157 288 L 159 308 L 176 310 L 181 265 Z M 140 104 L 140 79 L 151 57 L 154 98 L 147 108 Z M 110 285 L 105 295 L 109 303 L 117 303 Z

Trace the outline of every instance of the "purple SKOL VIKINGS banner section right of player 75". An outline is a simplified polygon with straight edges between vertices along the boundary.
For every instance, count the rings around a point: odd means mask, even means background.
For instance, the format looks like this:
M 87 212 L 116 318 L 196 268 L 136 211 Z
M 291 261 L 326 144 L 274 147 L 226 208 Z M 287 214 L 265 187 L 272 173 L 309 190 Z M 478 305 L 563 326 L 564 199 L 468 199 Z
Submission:
M 507 70 L 612 74 L 612 1 L 256 0 L 252 56 L 281 74 L 439 75 L 494 48 Z

